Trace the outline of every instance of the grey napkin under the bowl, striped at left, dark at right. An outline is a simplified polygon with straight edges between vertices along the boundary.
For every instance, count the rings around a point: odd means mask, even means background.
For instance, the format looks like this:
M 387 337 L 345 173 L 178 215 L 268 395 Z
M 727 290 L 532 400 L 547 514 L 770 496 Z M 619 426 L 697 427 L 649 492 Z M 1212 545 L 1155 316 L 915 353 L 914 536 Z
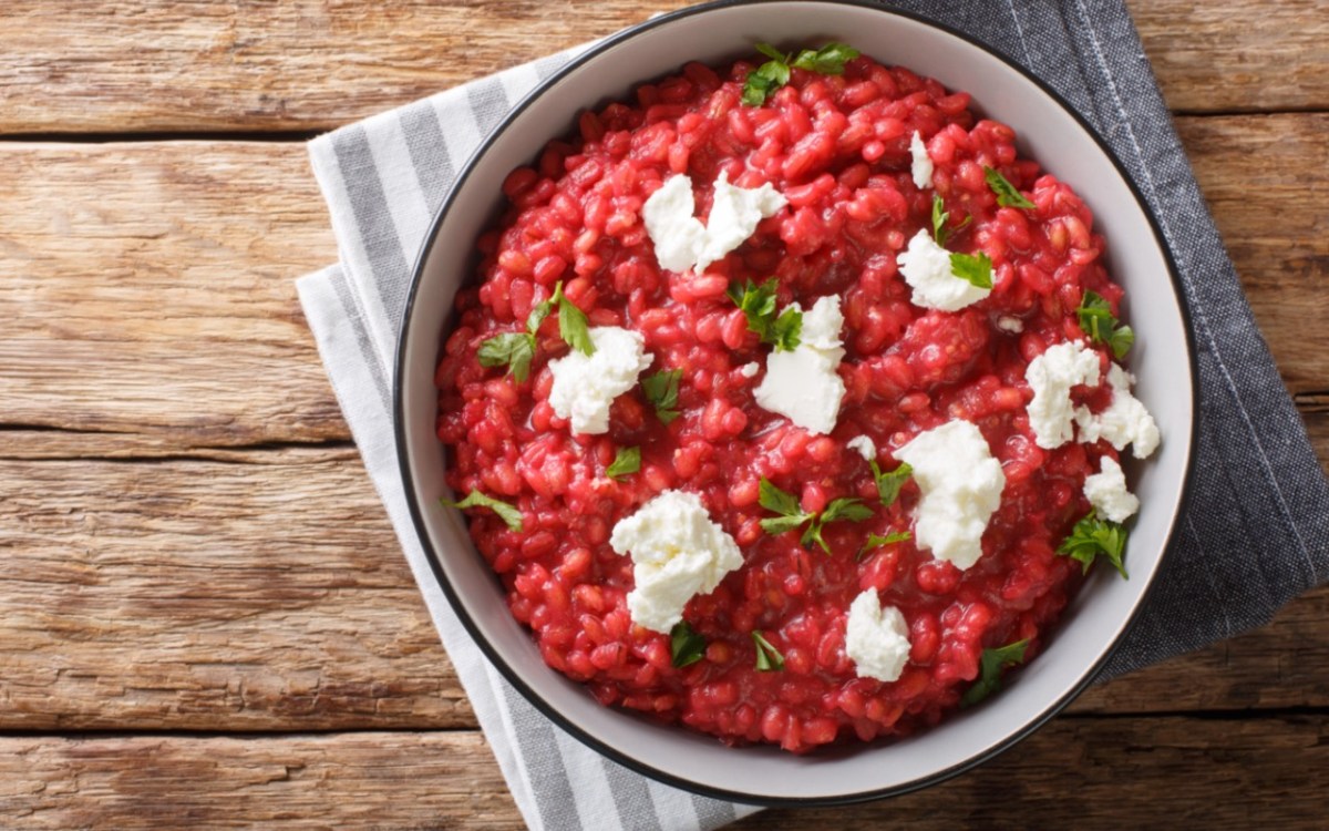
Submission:
M 1104 677 L 1267 622 L 1329 580 L 1329 488 L 1205 210 L 1120 0 L 882 3 L 987 43 L 1104 136 L 1163 223 L 1195 312 L 1201 428 L 1181 532 Z M 393 448 L 389 378 L 411 266 L 480 138 L 577 49 L 310 144 L 339 265 L 299 281 L 328 376 L 412 573 L 532 828 L 715 828 L 754 808 L 684 794 L 553 726 L 485 661 L 433 584 Z

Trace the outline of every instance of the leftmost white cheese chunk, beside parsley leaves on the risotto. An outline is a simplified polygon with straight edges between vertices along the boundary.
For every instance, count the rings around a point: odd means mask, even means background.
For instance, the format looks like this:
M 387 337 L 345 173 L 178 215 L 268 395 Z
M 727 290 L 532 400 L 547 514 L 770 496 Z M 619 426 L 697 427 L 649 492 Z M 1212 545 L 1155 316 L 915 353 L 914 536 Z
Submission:
M 638 332 L 617 326 L 590 328 L 594 355 L 579 350 L 552 360 L 554 386 L 549 404 L 561 419 L 571 421 L 573 432 L 609 432 L 609 407 L 614 399 L 637 386 L 637 376 L 651 366 L 645 340 Z

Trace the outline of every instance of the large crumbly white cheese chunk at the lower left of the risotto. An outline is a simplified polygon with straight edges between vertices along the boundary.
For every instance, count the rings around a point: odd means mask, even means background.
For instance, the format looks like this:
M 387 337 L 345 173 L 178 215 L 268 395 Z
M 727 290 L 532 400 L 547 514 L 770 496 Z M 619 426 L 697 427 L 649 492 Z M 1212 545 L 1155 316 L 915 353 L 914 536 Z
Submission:
M 633 622 L 668 633 L 687 601 L 708 594 L 743 565 L 734 537 L 711 521 L 695 493 L 664 491 L 614 525 L 609 544 L 633 557 L 635 586 L 627 594 Z

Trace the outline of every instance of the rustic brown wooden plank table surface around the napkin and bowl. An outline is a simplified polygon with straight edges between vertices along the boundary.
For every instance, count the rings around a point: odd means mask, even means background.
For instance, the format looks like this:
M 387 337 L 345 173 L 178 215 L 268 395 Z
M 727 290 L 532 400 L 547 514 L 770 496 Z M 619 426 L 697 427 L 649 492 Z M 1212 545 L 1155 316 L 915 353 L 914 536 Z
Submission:
M 0 827 L 521 826 L 296 302 L 336 255 L 303 141 L 674 5 L 0 5 Z M 1130 5 L 1329 465 L 1329 1 Z M 740 826 L 1324 828 L 1326 792 L 1320 589 L 957 780 Z

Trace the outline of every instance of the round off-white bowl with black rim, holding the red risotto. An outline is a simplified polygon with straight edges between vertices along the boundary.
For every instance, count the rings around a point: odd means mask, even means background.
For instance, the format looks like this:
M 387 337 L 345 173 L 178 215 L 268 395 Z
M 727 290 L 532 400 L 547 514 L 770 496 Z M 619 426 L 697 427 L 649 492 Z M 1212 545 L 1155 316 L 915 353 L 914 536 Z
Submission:
M 435 436 L 433 371 L 457 287 L 472 279 L 474 241 L 500 203 L 500 183 L 529 164 L 575 116 L 625 98 L 635 84 L 690 60 L 751 56 L 752 45 L 839 40 L 970 92 L 974 109 L 1011 125 L 1021 154 L 1069 182 L 1091 206 L 1108 265 L 1126 287 L 1138 340 L 1136 394 L 1163 432 L 1160 451 L 1132 471 L 1143 508 L 1131 531 L 1131 578 L 1099 568 L 1066 609 L 1047 649 L 981 707 L 894 742 L 795 757 L 775 747 L 732 749 L 595 703 L 549 669 L 509 614 L 500 584 L 472 546 L 461 517 L 439 507 L 444 451 Z M 607 39 L 542 84 L 489 136 L 459 177 L 424 245 L 401 326 L 396 376 L 401 473 L 433 572 L 476 642 L 545 714 L 611 758 L 695 792 L 763 804 L 835 803 L 938 782 L 1027 735 L 1074 698 L 1104 663 L 1140 608 L 1183 503 L 1195 427 L 1195 351 L 1187 311 L 1156 223 L 1122 166 L 1049 89 L 964 36 L 857 3 L 720 3 L 650 20 Z

